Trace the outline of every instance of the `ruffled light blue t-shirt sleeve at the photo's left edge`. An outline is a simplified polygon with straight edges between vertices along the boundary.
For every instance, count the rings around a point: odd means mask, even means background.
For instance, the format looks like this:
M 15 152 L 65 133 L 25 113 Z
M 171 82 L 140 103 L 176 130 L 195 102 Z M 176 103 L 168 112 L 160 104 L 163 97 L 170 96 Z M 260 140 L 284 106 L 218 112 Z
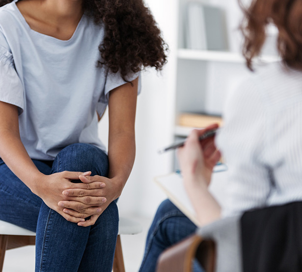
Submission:
M 1 43 L 1 37 L 0 37 Z M 0 101 L 18 107 L 19 115 L 24 109 L 24 92 L 16 72 L 13 55 L 0 44 Z

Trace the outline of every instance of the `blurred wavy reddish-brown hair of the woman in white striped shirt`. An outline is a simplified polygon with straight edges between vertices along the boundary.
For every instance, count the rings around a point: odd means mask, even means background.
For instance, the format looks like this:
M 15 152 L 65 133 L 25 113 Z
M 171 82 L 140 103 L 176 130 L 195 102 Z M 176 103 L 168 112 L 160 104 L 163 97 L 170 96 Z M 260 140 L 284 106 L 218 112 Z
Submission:
M 259 55 L 266 40 L 267 25 L 278 28 L 277 49 L 283 63 L 302 70 L 302 0 L 253 0 L 241 25 L 245 37 L 243 54 L 252 70 L 252 59 Z

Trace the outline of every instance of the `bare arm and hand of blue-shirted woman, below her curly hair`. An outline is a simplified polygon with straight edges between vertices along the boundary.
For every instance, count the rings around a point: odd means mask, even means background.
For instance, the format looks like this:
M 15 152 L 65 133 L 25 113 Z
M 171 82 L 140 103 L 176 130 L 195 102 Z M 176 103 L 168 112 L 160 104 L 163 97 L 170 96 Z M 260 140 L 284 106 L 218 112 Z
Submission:
M 138 78 L 131 83 L 126 83 L 110 91 L 109 98 L 109 175 L 85 176 L 80 179 L 82 182 L 92 184 L 96 181 L 104 182 L 106 186 L 99 190 L 66 190 L 69 199 L 77 199 L 82 202 L 82 209 L 79 210 L 72 201 L 61 201 L 64 212 L 75 217 L 88 217 L 89 220 L 79 223 L 82 226 L 89 226 L 96 222 L 97 218 L 104 212 L 108 205 L 121 195 L 126 181 L 131 173 L 135 159 L 135 116 L 137 104 Z M 65 193 L 65 192 L 64 192 Z M 91 200 L 93 197 L 105 197 L 106 203 L 91 202 L 89 207 L 85 205 L 86 197 Z M 82 200 L 81 200 L 82 199 Z M 84 216 L 83 216 L 84 214 Z

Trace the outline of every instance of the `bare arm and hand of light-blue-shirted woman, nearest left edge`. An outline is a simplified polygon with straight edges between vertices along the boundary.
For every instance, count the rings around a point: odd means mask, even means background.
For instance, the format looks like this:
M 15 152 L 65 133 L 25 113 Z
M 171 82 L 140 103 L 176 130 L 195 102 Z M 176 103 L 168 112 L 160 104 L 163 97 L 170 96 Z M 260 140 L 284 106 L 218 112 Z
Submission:
M 27 187 L 52 209 L 66 220 L 79 223 L 82 218 L 75 218 L 63 213 L 63 208 L 57 203 L 66 198 L 62 195 L 69 188 L 100 188 L 100 182 L 94 184 L 74 184 L 72 179 L 79 179 L 83 173 L 62 172 L 52 175 L 41 173 L 30 159 L 20 139 L 18 108 L 12 104 L 0 101 L 0 157 L 8 168 L 19 177 Z M 89 173 L 88 173 L 89 174 Z

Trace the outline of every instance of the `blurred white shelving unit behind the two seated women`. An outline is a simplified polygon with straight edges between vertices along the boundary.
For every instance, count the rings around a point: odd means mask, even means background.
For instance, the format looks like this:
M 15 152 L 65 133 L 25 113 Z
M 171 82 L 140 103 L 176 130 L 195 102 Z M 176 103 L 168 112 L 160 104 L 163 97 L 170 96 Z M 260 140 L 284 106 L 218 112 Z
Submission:
M 241 54 L 239 45 L 242 38 L 238 28 L 241 21 L 238 1 L 200 0 L 224 9 L 229 51 L 185 48 L 185 13 L 188 1 L 178 0 L 179 26 L 175 89 L 175 138 L 186 137 L 192 130 L 191 127 L 177 125 L 177 116 L 179 114 L 191 112 L 220 115 L 228 93 L 249 75 L 246 61 Z M 255 64 L 261 65 L 276 61 L 278 61 L 277 56 L 263 55 L 256 60 Z

